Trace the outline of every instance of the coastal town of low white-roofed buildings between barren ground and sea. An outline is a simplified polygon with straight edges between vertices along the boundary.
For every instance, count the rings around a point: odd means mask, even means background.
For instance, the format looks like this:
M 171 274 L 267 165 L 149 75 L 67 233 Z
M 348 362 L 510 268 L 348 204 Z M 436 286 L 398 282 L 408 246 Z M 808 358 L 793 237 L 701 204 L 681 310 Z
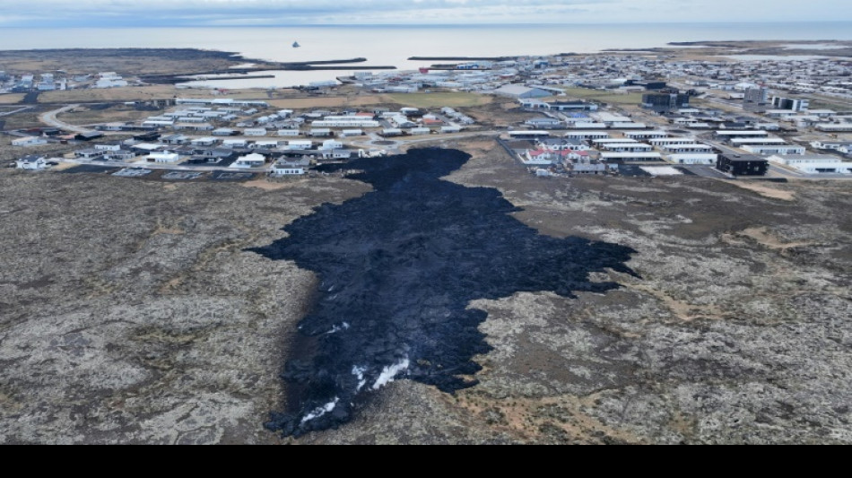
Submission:
M 193 179 L 304 176 L 327 161 L 394 154 L 438 140 L 491 136 L 539 177 L 580 174 L 708 178 L 848 178 L 852 174 L 852 62 L 815 57 L 683 60 L 670 56 L 519 57 L 357 72 L 302 88 L 325 98 L 481 95 L 505 120 L 464 107 L 276 109 L 266 100 L 163 98 L 127 102 L 135 121 L 7 129 L 19 169 L 57 165 L 142 177 L 168 169 Z M 38 80 L 36 79 L 38 76 Z M 0 72 L 0 93 L 124 89 L 117 73 Z M 510 102 L 511 106 L 507 107 Z M 17 105 L 15 105 L 17 106 Z M 833 107 L 833 108 L 830 108 Z M 25 107 L 23 107 L 25 108 Z M 14 112 L 14 110 L 13 110 Z M 61 154 L 46 146 L 66 146 Z

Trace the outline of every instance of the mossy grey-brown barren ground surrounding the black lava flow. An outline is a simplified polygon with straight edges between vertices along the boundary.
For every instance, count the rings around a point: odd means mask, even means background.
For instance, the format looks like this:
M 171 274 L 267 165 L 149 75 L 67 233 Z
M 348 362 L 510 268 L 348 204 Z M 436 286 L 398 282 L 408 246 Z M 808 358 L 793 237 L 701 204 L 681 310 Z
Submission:
M 450 180 L 543 234 L 635 248 L 641 279 L 475 301 L 481 385 L 397 381 L 298 443 L 852 442 L 852 185 L 542 179 L 458 146 L 474 160 Z M 0 170 L 0 442 L 278 441 L 261 423 L 314 283 L 244 249 L 365 191 L 286 186 Z

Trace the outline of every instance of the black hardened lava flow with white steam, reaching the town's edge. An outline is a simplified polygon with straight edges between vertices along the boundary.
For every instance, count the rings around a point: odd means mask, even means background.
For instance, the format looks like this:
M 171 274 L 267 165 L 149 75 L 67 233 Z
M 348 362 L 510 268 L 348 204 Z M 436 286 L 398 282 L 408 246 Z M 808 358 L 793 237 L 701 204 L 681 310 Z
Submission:
M 442 149 L 329 165 L 374 191 L 284 228 L 289 234 L 254 252 L 294 261 L 319 280 L 299 326 L 283 379 L 289 411 L 267 427 L 285 436 L 336 428 L 363 395 L 407 378 L 448 393 L 473 387 L 475 355 L 490 351 L 472 300 L 520 291 L 604 292 L 590 282 L 605 268 L 632 274 L 630 248 L 539 234 L 510 214 L 496 189 L 442 180 L 470 156 Z M 523 174 L 518 172 L 518 174 Z

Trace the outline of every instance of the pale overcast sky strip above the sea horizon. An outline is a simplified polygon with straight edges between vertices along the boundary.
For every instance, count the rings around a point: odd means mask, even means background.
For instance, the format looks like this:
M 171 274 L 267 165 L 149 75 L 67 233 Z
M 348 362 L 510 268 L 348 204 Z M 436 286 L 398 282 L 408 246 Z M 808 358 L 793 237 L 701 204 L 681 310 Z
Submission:
M 849 0 L 0 0 L 2 26 L 852 21 Z

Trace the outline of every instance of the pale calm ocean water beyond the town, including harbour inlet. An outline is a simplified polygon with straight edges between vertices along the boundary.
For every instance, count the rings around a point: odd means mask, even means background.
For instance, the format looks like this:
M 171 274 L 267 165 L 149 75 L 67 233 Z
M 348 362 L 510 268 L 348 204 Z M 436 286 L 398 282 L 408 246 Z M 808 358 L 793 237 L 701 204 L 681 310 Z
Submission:
M 0 49 L 206 48 L 281 62 L 365 57 L 365 65 L 393 65 L 402 70 L 433 63 L 409 61 L 411 56 L 594 53 L 608 48 L 665 47 L 672 41 L 745 39 L 852 40 L 852 22 L 0 29 Z M 301 48 L 292 48 L 294 41 Z M 277 72 L 275 79 L 207 84 L 283 87 L 346 73 Z

